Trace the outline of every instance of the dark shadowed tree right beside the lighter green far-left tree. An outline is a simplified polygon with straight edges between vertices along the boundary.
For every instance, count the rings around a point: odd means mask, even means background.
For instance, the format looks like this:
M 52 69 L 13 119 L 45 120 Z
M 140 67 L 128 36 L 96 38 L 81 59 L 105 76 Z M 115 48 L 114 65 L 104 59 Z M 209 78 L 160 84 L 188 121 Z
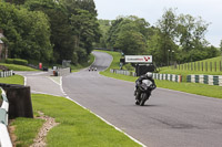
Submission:
M 27 0 L 26 7 L 31 11 L 44 12 L 50 22 L 53 61 L 73 59 L 74 36 L 65 8 L 53 0 Z

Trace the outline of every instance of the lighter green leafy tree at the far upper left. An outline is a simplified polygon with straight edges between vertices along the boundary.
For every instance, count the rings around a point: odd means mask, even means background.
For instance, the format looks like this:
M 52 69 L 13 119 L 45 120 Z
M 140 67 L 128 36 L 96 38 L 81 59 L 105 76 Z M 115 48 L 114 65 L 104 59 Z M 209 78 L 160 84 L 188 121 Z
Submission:
M 49 22 L 43 13 L 1 2 L 0 28 L 4 30 L 9 57 L 42 61 L 52 57 Z

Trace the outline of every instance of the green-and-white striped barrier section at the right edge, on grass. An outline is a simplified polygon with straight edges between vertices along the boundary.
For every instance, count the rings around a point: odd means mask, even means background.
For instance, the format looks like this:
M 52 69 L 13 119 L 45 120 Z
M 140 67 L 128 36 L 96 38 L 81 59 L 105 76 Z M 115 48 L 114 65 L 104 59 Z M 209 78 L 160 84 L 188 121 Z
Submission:
M 186 82 L 222 86 L 222 75 L 188 75 Z

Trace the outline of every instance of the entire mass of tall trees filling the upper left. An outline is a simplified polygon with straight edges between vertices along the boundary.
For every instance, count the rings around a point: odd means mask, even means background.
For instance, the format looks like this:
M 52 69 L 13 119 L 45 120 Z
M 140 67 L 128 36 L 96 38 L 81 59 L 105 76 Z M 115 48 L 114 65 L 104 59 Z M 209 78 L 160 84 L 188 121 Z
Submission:
M 99 42 L 93 0 L 1 0 L 0 29 L 11 59 L 87 62 Z

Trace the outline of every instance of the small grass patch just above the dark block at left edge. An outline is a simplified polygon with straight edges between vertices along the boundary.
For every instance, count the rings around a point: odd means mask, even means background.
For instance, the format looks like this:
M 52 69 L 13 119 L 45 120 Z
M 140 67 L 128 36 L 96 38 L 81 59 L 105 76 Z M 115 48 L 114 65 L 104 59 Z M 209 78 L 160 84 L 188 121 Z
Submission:
M 9 77 L 0 77 L 0 83 L 23 85 L 24 78 L 21 75 L 12 75 Z

